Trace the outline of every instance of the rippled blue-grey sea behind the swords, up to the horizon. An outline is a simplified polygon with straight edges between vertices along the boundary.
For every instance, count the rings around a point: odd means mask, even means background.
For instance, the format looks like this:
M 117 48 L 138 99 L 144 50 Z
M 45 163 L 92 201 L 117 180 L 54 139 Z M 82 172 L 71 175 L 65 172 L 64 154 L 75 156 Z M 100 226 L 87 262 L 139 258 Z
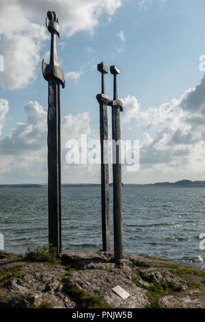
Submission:
M 124 251 L 205 265 L 205 250 L 199 247 L 205 233 L 205 188 L 124 186 L 122 193 Z M 47 227 L 46 187 L 0 189 L 5 251 L 22 253 L 45 245 Z M 62 188 L 62 244 L 62 251 L 101 249 L 100 186 Z M 204 263 L 193 262 L 198 256 Z

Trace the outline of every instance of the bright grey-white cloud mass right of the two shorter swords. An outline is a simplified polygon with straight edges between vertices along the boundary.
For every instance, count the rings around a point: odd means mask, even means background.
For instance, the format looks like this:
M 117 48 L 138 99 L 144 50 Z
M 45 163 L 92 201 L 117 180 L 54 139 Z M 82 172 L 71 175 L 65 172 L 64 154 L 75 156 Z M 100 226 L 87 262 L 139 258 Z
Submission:
M 143 110 L 136 97 L 123 100 L 122 123 L 135 120 L 135 129 L 140 127 L 141 171 L 159 166 L 178 171 L 189 177 L 190 172 L 203 175 L 205 158 L 205 79 L 193 89 L 186 90 L 178 99 L 163 103 L 158 108 Z M 123 115 L 124 114 L 124 115 Z M 153 175 L 152 173 L 152 175 Z M 170 177 L 170 175 L 168 175 Z M 199 178 L 199 177 L 198 177 Z

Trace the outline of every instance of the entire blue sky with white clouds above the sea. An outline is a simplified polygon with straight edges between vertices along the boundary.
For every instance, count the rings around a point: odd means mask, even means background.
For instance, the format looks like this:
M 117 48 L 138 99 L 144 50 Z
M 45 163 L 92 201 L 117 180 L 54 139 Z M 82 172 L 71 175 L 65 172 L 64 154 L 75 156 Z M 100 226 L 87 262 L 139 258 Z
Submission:
M 205 180 L 204 0 L 0 0 L 0 184 L 47 181 L 41 62 L 49 62 L 49 10 L 59 16 L 57 54 L 66 77 L 62 182 L 100 183 L 99 164 L 66 163 L 66 143 L 99 137 L 102 61 L 120 69 L 122 139 L 140 143 L 139 169 L 122 166 L 122 181 Z M 110 73 L 106 88 L 112 99 Z

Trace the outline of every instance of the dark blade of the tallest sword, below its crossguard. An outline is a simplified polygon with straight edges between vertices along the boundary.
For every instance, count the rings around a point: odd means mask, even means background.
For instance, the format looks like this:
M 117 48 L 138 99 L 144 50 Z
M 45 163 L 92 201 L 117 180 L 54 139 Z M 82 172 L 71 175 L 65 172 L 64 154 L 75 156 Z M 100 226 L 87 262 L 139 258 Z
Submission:
M 60 86 L 49 79 L 48 169 L 49 169 L 49 243 L 61 252 L 61 147 Z

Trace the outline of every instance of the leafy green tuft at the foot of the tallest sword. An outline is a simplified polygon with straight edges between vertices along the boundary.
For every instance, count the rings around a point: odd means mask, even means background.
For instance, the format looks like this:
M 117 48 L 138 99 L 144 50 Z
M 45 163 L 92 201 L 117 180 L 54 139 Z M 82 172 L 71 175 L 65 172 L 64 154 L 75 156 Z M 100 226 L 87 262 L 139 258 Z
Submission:
M 57 258 L 57 251 L 52 245 L 37 247 L 35 251 L 31 251 L 31 249 L 28 248 L 24 260 L 27 262 L 61 264 L 61 260 Z

